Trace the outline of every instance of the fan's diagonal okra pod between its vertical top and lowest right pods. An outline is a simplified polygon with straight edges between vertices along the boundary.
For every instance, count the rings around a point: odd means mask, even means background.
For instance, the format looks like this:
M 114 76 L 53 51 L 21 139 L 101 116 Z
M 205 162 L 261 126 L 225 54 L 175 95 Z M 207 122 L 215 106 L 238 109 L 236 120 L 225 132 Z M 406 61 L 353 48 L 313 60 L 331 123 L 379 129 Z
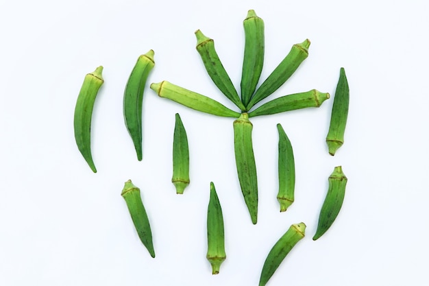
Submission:
M 308 57 L 308 47 L 310 47 L 310 40 L 308 39 L 304 40 L 303 43 L 293 45 L 286 58 L 280 62 L 271 75 L 268 76 L 267 80 L 256 90 L 256 93 L 246 106 L 247 110 L 250 110 L 252 106 L 271 95 L 274 91 L 277 91 L 293 75 L 299 64 Z

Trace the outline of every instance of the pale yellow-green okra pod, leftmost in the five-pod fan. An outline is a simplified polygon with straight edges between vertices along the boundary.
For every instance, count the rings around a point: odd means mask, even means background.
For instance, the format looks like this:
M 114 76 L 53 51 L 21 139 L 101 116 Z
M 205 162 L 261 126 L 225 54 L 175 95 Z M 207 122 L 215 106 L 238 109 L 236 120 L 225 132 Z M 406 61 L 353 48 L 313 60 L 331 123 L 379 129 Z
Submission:
M 221 117 L 237 118 L 240 116 L 240 113 L 230 110 L 210 97 L 194 93 L 193 91 L 188 91 L 186 88 L 176 86 L 166 80 L 158 84 L 151 84 L 151 89 L 160 97 L 171 99 L 174 102 L 201 112 Z

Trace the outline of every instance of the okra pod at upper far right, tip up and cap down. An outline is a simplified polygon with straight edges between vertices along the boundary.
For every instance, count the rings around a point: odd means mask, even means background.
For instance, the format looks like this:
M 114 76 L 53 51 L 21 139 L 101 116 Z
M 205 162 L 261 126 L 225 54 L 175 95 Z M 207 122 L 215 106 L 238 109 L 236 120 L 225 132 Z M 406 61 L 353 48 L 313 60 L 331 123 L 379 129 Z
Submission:
M 329 154 L 334 156 L 336 150 L 344 143 L 345 123 L 349 113 L 349 84 L 345 76 L 344 68 L 340 70 L 340 78 L 336 85 L 334 103 L 332 104 L 331 122 L 326 143 Z

